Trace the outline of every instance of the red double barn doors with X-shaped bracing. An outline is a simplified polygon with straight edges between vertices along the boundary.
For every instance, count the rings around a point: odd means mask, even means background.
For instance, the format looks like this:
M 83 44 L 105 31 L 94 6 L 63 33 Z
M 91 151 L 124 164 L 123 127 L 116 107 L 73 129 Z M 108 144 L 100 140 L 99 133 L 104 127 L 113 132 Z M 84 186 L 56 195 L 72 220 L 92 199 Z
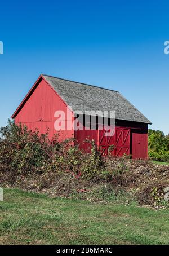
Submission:
M 110 145 L 114 145 L 112 155 L 123 156 L 130 154 L 130 129 L 115 127 L 113 136 L 105 136 L 105 130 L 98 130 L 98 145 L 103 155 L 108 155 Z

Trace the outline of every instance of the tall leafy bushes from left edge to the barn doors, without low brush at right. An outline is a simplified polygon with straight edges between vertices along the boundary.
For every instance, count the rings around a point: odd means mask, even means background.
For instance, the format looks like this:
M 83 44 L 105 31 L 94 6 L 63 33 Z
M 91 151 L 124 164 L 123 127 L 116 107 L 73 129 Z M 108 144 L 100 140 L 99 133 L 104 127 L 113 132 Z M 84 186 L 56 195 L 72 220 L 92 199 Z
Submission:
M 13 173 L 60 173 L 68 172 L 76 178 L 101 179 L 103 161 L 94 141 L 91 154 L 84 154 L 73 145 L 74 139 L 60 140 L 55 135 L 52 140 L 48 134 L 29 131 L 26 126 L 8 126 L 0 130 L 0 166 L 3 171 Z

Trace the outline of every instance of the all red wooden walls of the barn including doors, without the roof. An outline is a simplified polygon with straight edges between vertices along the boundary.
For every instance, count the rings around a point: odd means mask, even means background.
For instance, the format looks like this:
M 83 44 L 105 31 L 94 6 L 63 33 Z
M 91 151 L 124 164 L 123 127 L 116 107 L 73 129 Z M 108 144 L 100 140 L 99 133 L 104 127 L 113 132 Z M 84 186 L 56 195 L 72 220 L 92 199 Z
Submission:
M 26 95 L 23 102 L 17 108 L 12 116 L 15 123 L 22 123 L 28 126 L 28 129 L 39 129 L 40 133 L 46 133 L 49 129 L 50 139 L 57 131 L 54 129 L 56 118 L 55 111 L 65 112 L 65 121 L 67 117 L 67 105 L 55 92 L 47 81 L 39 77 L 32 89 Z M 69 110 L 70 112 L 70 110 Z M 70 113 L 69 113 L 70 114 Z M 73 121 L 74 118 L 71 118 Z M 81 131 L 65 130 L 60 131 L 60 139 L 74 137 L 80 143 L 81 148 L 90 151 L 89 144 L 83 143 L 86 138 L 94 139 L 97 145 L 100 145 L 105 153 L 108 153 L 108 145 L 115 144 L 113 155 L 122 156 L 123 153 L 132 154 L 132 158 L 148 157 L 148 125 L 146 123 L 115 120 L 114 138 L 101 140 L 98 130 Z M 127 135 L 126 139 L 125 136 Z M 106 143 L 106 144 L 105 144 Z M 129 149 L 130 148 L 130 149 Z

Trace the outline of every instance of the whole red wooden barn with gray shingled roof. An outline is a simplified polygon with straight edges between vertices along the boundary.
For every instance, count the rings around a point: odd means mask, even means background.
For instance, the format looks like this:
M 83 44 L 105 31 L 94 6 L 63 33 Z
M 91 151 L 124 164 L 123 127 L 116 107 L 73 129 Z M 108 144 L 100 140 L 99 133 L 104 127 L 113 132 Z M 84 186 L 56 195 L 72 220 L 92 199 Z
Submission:
M 110 111 L 115 112 L 114 133 L 106 136 L 102 128 L 111 123 Z M 48 130 L 50 138 L 58 131 L 61 139 L 73 137 L 85 150 L 88 145 L 83 141 L 88 138 L 104 154 L 113 145 L 115 156 L 148 157 L 151 122 L 118 91 L 41 74 L 11 118 L 30 130 Z M 83 129 L 77 129 L 80 126 Z

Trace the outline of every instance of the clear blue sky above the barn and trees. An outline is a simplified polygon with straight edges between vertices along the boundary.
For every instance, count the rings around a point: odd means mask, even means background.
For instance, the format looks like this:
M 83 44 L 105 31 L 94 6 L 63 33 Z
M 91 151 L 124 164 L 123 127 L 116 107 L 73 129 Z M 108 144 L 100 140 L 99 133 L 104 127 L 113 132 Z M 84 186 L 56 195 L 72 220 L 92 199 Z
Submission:
M 168 1 L 1 1 L 0 126 L 40 73 L 121 91 L 169 133 Z

